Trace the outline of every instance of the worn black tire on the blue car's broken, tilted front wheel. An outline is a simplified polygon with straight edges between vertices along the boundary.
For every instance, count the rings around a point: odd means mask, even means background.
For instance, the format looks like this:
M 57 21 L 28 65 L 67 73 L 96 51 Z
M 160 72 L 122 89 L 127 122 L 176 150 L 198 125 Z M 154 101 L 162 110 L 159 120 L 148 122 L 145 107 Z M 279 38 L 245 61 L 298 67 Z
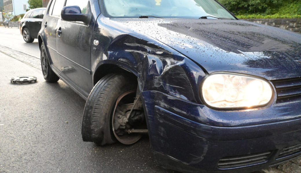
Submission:
M 116 141 L 112 130 L 113 109 L 118 97 L 135 89 L 135 82 L 121 74 L 104 76 L 92 89 L 82 119 L 82 139 L 97 145 Z

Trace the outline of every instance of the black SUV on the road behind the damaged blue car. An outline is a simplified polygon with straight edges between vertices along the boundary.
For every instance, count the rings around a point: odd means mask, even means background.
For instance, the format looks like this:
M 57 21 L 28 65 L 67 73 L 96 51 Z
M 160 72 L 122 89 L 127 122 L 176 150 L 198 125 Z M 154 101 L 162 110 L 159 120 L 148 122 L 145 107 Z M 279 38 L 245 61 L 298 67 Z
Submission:
M 20 21 L 20 33 L 26 43 L 32 43 L 38 38 L 46 8 L 29 10 Z

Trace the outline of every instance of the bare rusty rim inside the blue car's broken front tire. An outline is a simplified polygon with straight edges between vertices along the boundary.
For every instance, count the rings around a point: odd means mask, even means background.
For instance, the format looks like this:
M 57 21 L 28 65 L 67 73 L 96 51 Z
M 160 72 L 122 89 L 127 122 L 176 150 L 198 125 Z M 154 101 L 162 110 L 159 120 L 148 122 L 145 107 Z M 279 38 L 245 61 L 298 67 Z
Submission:
M 114 136 L 116 137 L 116 139 L 120 143 L 125 144 L 125 145 L 134 144 L 135 142 L 137 142 L 142 137 L 142 135 L 138 134 L 138 133 L 126 133 L 126 132 L 123 132 L 123 135 L 120 135 L 120 131 L 122 131 L 124 129 L 122 129 L 122 128 L 121 129 L 115 129 L 116 123 L 117 123 L 116 120 L 119 119 L 119 121 L 120 121 L 120 119 L 122 119 L 122 118 L 125 119 L 124 117 L 126 116 L 126 112 L 129 112 L 131 110 L 131 108 L 132 108 L 132 105 L 133 105 L 133 103 L 121 105 L 121 104 L 119 104 L 120 101 L 126 95 L 132 94 L 132 93 L 135 93 L 135 92 L 136 92 L 135 90 L 132 90 L 132 91 L 127 91 L 127 92 L 121 94 L 118 97 L 117 101 L 116 101 L 116 105 L 115 105 L 115 108 L 114 108 L 114 111 L 113 111 L 112 129 L 113 129 Z M 127 120 L 125 120 L 124 123 L 126 124 Z

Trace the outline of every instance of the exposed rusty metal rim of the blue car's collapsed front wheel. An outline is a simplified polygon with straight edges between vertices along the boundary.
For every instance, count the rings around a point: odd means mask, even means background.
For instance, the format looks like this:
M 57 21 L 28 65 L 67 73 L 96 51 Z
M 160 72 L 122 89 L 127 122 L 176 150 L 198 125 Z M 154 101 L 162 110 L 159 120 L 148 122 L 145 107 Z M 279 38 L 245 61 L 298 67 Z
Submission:
M 118 114 L 118 107 L 120 107 L 120 106 L 126 107 L 126 106 L 131 105 L 131 103 L 130 104 L 119 105 L 119 103 L 122 100 L 122 98 L 125 97 L 125 96 L 127 96 L 127 95 L 129 95 L 129 94 L 133 94 L 135 92 L 136 92 L 135 90 L 127 91 L 127 92 L 121 94 L 118 97 L 118 99 L 116 101 L 116 105 L 114 107 L 113 116 L 112 116 L 112 129 L 113 129 L 114 136 L 116 137 L 116 139 L 120 143 L 125 144 L 125 145 L 131 145 L 131 144 L 136 143 L 139 139 L 141 139 L 142 135 L 139 134 L 139 133 L 128 133 L 128 134 L 126 133 L 124 135 L 118 135 L 116 133 L 116 130 L 118 130 L 118 129 L 114 128 L 114 117 L 119 115 Z

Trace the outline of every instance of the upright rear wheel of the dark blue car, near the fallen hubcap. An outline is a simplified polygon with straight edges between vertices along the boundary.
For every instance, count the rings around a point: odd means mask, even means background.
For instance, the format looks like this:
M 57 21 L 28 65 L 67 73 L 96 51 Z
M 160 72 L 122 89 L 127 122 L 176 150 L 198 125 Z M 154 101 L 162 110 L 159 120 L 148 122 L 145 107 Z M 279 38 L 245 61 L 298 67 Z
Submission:
M 42 43 L 40 51 L 41 51 L 41 66 L 42 66 L 42 73 L 44 79 L 47 82 L 51 82 L 51 83 L 57 82 L 60 78 L 52 71 L 50 67 L 44 43 Z

